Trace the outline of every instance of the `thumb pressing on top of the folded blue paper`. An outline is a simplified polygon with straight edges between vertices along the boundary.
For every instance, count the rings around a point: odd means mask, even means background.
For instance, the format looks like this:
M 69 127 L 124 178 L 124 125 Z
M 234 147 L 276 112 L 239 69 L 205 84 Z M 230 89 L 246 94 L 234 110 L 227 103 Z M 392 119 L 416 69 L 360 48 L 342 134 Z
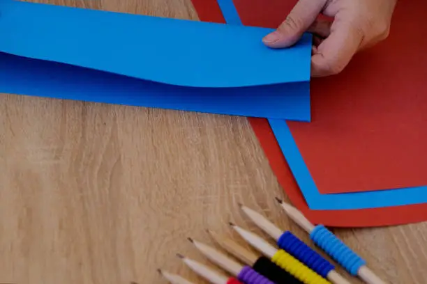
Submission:
M 327 0 L 299 0 L 285 21 L 262 41 L 268 47 L 282 48 L 294 45 L 313 24 Z

